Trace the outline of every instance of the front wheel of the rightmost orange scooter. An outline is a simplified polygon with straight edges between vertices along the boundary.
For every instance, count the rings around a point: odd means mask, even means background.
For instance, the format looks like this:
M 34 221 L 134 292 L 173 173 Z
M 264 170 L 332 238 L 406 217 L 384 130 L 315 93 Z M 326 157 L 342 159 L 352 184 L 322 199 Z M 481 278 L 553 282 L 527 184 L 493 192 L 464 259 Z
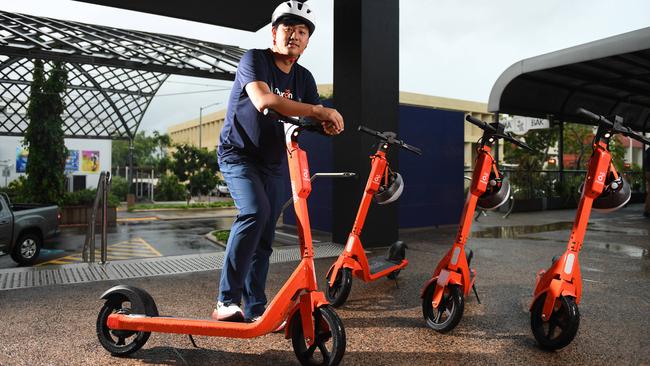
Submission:
M 530 311 L 530 327 L 542 349 L 553 351 L 564 348 L 575 338 L 580 326 L 580 312 L 575 299 L 560 296 L 548 321 L 542 319 L 546 294 L 535 300 Z M 559 330 L 559 332 L 558 332 Z

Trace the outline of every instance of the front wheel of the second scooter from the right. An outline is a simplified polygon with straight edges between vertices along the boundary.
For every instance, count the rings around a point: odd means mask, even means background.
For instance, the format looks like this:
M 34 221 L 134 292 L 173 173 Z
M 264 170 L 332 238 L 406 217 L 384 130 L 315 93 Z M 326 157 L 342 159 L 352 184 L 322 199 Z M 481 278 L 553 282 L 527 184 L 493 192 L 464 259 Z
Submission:
M 440 333 L 446 333 L 454 329 L 463 317 L 465 301 L 463 292 L 458 285 L 445 287 L 440 304 L 433 307 L 433 294 L 436 283 L 427 287 L 422 297 L 422 315 L 427 321 L 429 328 Z

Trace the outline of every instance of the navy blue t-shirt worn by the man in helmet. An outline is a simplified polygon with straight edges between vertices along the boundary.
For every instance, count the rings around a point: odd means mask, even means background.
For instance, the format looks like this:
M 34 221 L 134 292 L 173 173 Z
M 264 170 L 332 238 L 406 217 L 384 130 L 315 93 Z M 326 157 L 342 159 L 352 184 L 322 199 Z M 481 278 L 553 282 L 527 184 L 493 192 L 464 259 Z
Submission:
M 309 70 L 293 65 L 287 74 L 273 60 L 271 50 L 252 49 L 239 61 L 228 100 L 228 111 L 219 138 L 219 161 L 243 159 L 279 170 L 286 157 L 284 128 L 257 111 L 246 93 L 246 85 L 264 81 L 271 92 L 297 102 L 320 104 L 316 82 Z

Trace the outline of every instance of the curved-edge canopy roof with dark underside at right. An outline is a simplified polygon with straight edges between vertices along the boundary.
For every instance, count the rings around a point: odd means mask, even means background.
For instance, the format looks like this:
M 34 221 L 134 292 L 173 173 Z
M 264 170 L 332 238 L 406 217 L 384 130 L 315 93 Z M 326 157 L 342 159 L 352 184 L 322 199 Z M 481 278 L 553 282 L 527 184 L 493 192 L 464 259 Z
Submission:
M 578 107 L 650 132 L 650 27 L 519 61 L 488 102 L 490 112 L 592 123 Z

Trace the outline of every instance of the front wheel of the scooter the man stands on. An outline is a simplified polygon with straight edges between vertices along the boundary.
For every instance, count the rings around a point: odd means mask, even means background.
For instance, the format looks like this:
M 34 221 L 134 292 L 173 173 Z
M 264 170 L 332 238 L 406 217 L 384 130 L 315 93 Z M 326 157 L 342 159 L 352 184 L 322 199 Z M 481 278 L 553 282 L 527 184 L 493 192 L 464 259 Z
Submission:
M 291 319 L 291 343 L 301 365 L 338 365 L 345 353 L 345 329 L 341 319 L 329 306 L 314 311 L 316 339 L 309 346 L 302 329 L 300 312 Z

